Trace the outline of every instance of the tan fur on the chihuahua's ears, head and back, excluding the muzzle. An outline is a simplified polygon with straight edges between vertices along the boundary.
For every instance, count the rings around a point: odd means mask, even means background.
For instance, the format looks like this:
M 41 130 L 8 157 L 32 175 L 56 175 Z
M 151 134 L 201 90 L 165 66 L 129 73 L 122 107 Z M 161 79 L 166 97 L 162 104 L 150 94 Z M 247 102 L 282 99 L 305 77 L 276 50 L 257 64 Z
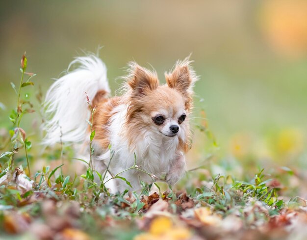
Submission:
M 161 109 L 172 111 L 175 116 L 180 109 L 185 109 L 186 120 L 181 124 L 184 129 L 184 139 L 179 138 L 178 151 L 186 153 L 191 147 L 189 113 L 192 109 L 192 86 L 197 80 L 194 71 L 186 58 L 177 62 L 172 73 L 165 74 L 167 84 L 159 85 L 155 72 L 140 67 L 132 62 L 129 64 L 129 74 L 126 77 L 124 88 L 126 92 L 122 97 L 106 99 L 105 92 L 99 92 L 93 103 L 96 104 L 93 128 L 97 140 L 103 149 L 110 143 L 108 127 L 110 118 L 114 114 L 114 107 L 121 103 L 128 104 L 125 133 L 128 145 L 133 150 L 138 141 L 142 141 L 144 129 L 153 129 L 153 112 Z M 173 117 L 174 117 L 173 116 Z

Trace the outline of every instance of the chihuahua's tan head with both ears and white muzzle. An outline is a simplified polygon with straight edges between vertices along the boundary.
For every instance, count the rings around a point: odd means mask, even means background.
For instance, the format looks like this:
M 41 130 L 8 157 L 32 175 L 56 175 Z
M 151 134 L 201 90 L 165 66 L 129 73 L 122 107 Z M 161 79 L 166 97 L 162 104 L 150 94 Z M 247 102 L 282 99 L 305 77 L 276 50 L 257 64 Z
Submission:
M 131 134 L 154 133 L 187 140 L 192 87 L 197 80 L 189 63 L 187 59 L 178 62 L 172 73 L 165 74 L 163 85 L 159 85 L 155 72 L 130 64 L 127 124 L 133 126 Z

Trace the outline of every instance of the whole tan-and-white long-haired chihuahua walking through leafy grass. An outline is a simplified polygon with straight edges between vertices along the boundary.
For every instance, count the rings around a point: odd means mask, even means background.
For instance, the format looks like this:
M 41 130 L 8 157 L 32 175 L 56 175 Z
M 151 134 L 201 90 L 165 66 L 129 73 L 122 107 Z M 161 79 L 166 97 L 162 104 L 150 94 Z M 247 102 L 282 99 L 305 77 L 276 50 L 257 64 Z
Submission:
M 177 183 L 191 147 L 189 118 L 198 80 L 189 57 L 177 61 L 165 80 L 159 84 L 154 70 L 130 62 L 121 96 L 110 97 L 102 60 L 92 54 L 77 57 L 47 92 L 45 143 L 89 146 L 92 124 L 93 165 L 100 173 L 107 170 L 111 191 L 128 187 L 114 178 L 118 173 L 133 190 L 140 189 L 140 181 Z

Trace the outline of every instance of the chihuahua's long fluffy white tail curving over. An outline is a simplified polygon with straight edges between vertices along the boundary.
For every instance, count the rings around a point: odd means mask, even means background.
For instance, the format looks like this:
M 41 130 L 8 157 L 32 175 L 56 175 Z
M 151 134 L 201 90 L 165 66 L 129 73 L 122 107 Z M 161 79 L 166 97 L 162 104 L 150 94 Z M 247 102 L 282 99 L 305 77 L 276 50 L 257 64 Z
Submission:
M 70 71 L 72 66 L 76 69 Z M 86 94 L 92 100 L 98 91 L 110 93 L 106 76 L 106 67 L 95 55 L 77 57 L 67 69 L 67 74 L 56 80 L 49 88 L 44 115 L 46 131 L 44 143 L 81 142 L 87 136 L 90 110 Z

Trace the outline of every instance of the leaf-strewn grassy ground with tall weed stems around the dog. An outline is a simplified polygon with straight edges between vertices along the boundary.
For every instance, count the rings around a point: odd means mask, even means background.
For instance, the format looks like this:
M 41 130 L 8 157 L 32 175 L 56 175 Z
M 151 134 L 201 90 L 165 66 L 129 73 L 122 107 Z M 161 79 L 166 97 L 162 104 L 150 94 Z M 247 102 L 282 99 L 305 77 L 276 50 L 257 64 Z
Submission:
M 34 86 L 30 80 L 35 74 L 27 73 L 26 68 L 24 54 L 19 88 L 11 84 L 17 95 L 16 108 L 9 116 L 12 127 L 2 136 L 0 148 L 3 152 L 0 155 L 1 237 L 244 239 L 251 230 L 253 239 L 291 236 L 290 231 L 276 235 L 275 230 L 277 227 L 285 229 L 291 224 L 289 219 L 294 213 L 297 217 L 304 212 L 306 201 L 289 189 L 294 176 L 299 180 L 304 178 L 288 167 L 270 170 L 269 174 L 260 167 L 254 177 L 249 174 L 235 177 L 236 164 L 233 163 L 236 161 L 217 158 L 218 144 L 206 124 L 198 125 L 197 129 L 200 134 L 205 133 L 202 136 L 207 145 L 214 149 L 211 155 L 188 171 L 178 185 L 141 182 L 140 193 L 128 192 L 130 183 L 118 173 L 112 178 L 125 181 L 127 190 L 111 194 L 105 187 L 109 181 L 105 180 L 105 173 L 93 169 L 95 107 L 91 108 L 92 119 L 88 121 L 91 129 L 89 163 L 75 159 L 73 149 L 62 143 L 38 153 L 41 146 L 32 146 L 30 141 L 37 136 L 27 134 L 21 127 L 24 115 L 35 110 L 21 97 L 25 87 Z M 89 104 L 89 100 L 87 102 Z M 83 167 L 77 169 L 77 165 Z M 226 174 L 215 174 L 214 166 L 222 167 Z M 131 169 L 144 172 L 136 164 L 124 171 Z M 146 173 L 154 179 L 155 176 Z

